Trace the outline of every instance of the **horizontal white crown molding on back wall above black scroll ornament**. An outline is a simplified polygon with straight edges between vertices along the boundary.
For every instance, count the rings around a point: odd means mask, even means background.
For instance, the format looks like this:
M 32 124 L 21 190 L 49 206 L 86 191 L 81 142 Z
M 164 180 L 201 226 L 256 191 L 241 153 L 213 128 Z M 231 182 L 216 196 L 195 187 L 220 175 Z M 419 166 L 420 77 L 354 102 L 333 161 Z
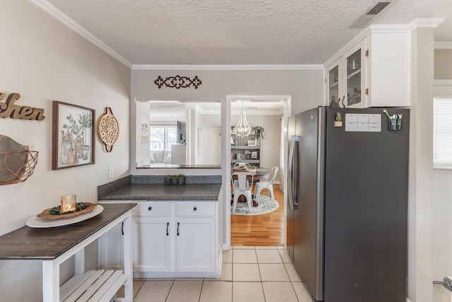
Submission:
M 323 65 L 171 65 L 133 64 L 133 70 L 323 70 Z

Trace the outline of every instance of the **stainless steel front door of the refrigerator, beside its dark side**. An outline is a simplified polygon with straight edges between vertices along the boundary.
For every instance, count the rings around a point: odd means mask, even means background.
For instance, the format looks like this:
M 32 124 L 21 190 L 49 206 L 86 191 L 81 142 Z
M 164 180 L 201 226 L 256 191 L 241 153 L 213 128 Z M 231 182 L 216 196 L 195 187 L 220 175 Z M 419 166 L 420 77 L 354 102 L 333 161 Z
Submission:
M 299 144 L 297 202 L 295 210 L 294 265 L 309 294 L 323 300 L 323 200 L 319 201 L 319 112 L 315 108 L 297 118 Z M 319 208 L 319 203 L 322 204 Z M 319 243 L 321 243 L 319 245 Z

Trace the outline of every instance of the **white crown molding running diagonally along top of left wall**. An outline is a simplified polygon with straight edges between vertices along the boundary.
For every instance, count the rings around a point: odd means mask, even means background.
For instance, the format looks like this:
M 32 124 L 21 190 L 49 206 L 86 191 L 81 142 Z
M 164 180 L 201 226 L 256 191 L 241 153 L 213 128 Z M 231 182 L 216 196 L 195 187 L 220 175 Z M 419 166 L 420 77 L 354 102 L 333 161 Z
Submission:
M 71 30 L 75 31 L 86 40 L 99 47 L 101 50 L 107 52 L 107 54 L 112 56 L 114 59 L 117 59 L 119 62 L 128 66 L 129 68 L 132 67 L 132 63 L 129 62 L 128 59 L 121 56 L 121 54 L 113 50 L 112 47 L 106 45 L 99 38 L 83 28 L 83 26 L 81 26 L 80 24 L 76 23 L 76 21 L 73 21 L 73 19 L 69 18 L 69 16 L 60 11 L 58 8 L 56 8 L 52 4 L 49 4 L 49 2 L 47 2 L 46 0 L 30 0 L 30 2 L 41 8 L 46 13 L 49 13 L 49 15 L 53 16 L 58 21 L 71 28 Z

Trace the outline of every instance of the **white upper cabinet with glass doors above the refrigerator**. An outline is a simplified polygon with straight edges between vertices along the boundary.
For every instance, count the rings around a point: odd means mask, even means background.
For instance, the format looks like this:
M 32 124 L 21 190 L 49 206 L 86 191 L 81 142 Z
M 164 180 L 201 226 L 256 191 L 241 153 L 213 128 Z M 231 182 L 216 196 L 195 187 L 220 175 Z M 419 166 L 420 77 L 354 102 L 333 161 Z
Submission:
M 408 106 L 408 33 L 371 33 L 326 69 L 326 105 L 367 108 Z

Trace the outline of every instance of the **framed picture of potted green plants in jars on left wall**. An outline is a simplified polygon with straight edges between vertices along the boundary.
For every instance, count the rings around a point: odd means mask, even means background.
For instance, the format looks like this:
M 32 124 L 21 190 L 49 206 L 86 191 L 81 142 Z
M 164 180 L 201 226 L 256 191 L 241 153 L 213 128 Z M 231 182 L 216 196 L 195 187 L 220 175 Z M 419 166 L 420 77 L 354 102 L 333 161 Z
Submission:
M 52 103 L 52 170 L 95 163 L 95 110 Z

